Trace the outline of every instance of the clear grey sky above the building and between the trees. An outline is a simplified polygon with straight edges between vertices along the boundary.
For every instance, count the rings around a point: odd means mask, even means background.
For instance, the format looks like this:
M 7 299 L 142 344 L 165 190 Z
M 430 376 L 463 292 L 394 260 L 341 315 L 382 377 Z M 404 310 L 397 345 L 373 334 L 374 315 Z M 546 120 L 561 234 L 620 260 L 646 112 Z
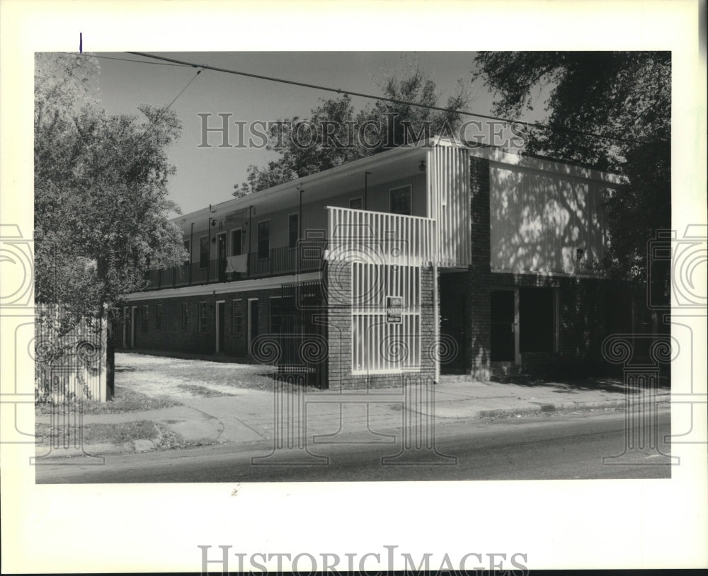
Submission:
M 390 74 L 402 76 L 407 67 L 418 64 L 440 91 L 438 103 L 459 91 L 458 80 L 472 94 L 468 110 L 491 114 L 493 94 L 482 81 L 472 83 L 475 52 L 154 52 L 165 57 L 251 74 L 312 83 L 320 86 L 381 94 L 379 83 Z M 157 62 L 127 52 L 96 52 L 101 56 L 98 82 L 103 107 L 111 114 L 141 115 L 142 103 L 171 102 L 195 76 L 195 69 Z M 111 59 L 109 59 L 109 57 Z M 112 58 L 140 60 L 126 62 Z M 378 81 L 378 83 L 377 83 Z M 273 121 L 286 117 L 309 117 L 319 98 L 336 93 L 275 83 L 246 76 L 203 70 L 171 106 L 183 124 L 181 139 L 169 149 L 177 173 L 170 180 L 171 200 L 183 214 L 224 202 L 232 197 L 234 184 L 246 179 L 249 164 L 265 166 L 278 156 L 265 149 L 219 148 L 222 137 L 208 136 L 202 142 L 202 117 L 209 114 L 210 127 L 221 126 L 219 114 L 231 114 L 232 122 Z M 353 97 L 356 109 L 373 100 Z M 525 117 L 537 120 L 538 117 Z M 474 120 L 474 119 L 470 119 Z M 229 140 L 237 140 L 236 125 L 229 128 Z

